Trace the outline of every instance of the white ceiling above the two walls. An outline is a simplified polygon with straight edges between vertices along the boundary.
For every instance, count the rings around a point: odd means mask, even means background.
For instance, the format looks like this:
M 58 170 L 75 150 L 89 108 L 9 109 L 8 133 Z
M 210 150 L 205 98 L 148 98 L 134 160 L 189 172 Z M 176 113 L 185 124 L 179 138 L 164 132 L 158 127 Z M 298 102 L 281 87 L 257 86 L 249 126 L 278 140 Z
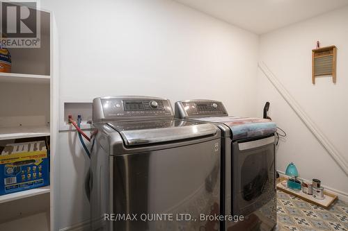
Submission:
M 348 0 L 175 0 L 263 34 L 348 5 Z

